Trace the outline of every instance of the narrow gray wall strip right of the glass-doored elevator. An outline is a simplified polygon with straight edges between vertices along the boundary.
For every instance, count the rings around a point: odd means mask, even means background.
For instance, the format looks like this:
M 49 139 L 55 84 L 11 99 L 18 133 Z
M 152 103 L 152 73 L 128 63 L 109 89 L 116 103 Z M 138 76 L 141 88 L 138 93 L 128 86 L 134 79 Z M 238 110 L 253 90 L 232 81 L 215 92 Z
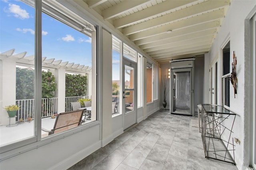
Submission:
M 195 91 L 195 110 L 197 111 L 197 104 L 203 103 L 204 98 L 204 56 L 196 57 L 195 59 L 195 77 L 194 77 L 194 91 Z

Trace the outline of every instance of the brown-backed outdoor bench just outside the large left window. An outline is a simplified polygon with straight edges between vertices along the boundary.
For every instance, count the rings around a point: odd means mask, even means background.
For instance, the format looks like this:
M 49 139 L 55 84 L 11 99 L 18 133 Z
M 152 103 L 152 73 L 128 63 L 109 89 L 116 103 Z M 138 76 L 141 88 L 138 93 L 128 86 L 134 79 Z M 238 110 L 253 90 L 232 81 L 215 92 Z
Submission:
M 52 130 L 42 128 L 43 131 L 48 132 L 48 135 L 63 132 L 65 130 L 75 128 L 82 124 L 84 110 L 76 110 L 60 113 L 57 115 L 54 127 Z

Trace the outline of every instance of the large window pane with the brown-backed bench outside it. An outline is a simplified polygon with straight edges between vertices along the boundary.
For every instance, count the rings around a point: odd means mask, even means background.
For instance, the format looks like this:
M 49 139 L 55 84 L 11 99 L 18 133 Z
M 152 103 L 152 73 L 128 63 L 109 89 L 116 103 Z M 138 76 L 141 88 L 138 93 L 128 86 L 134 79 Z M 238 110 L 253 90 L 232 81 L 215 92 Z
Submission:
M 92 36 L 74 20 L 59 21 L 55 18 L 64 20 L 62 14 L 46 13 L 42 14 L 42 128 L 46 129 L 42 137 L 57 128 L 54 123 L 60 113 L 86 108 L 82 120 L 70 117 L 74 126 L 64 124 L 58 132 L 96 120 L 91 107 Z

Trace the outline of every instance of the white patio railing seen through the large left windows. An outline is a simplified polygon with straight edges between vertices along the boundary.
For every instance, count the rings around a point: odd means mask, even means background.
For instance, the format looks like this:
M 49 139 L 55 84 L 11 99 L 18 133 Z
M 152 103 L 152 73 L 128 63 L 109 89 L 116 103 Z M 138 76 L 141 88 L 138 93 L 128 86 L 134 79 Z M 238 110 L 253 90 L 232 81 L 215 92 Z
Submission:
M 88 96 L 65 97 L 65 111 L 72 111 L 70 102 L 76 102 L 78 101 L 78 99 L 88 99 Z M 26 120 L 29 113 L 32 113 L 32 119 L 34 119 L 35 117 L 34 99 L 16 100 L 16 105 L 20 107 L 20 110 L 18 110 L 16 121 L 19 121 L 20 119 Z M 57 97 L 42 99 L 42 118 L 50 117 L 54 114 L 54 112 L 58 112 L 57 106 L 58 106 Z

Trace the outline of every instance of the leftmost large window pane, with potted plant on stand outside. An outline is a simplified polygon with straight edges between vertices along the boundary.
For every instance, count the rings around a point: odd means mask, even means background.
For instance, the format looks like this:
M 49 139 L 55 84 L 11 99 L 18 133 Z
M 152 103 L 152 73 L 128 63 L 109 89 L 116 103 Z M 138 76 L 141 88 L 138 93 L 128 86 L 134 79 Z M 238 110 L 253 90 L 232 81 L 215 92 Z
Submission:
M 4 146 L 35 134 L 35 10 L 16 0 L 1 0 L 0 6 L 0 144 Z M 14 115 L 3 109 L 10 105 L 18 106 Z

